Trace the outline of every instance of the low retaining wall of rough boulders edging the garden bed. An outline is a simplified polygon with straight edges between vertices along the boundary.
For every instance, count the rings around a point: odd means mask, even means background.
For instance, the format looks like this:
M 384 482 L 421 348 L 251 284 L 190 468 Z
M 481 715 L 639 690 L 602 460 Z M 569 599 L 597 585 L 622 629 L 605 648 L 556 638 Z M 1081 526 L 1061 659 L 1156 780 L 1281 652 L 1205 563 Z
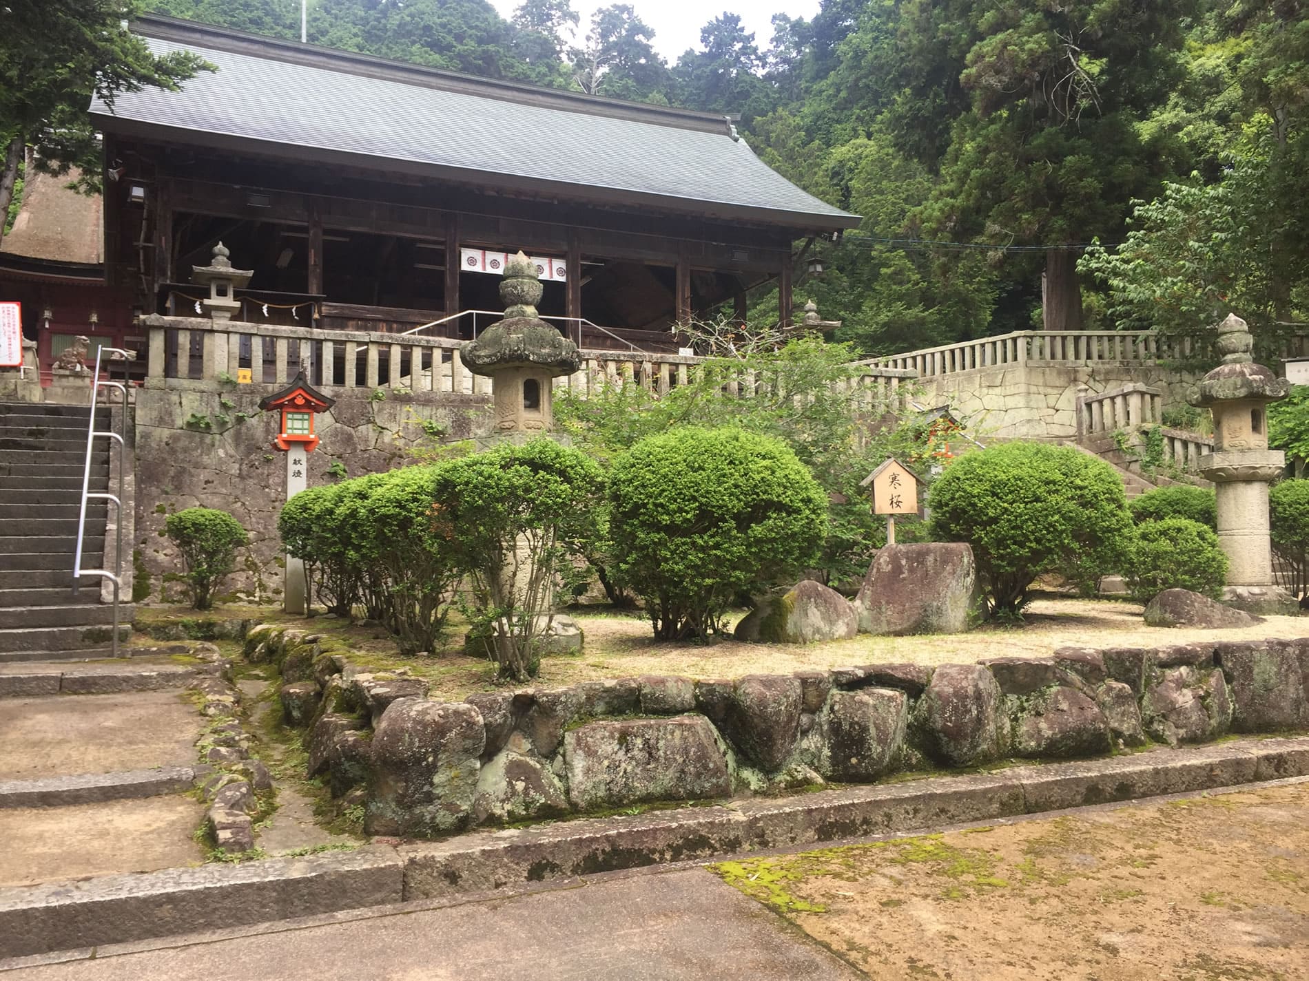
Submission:
M 1007 757 L 1079 759 L 1309 729 L 1309 638 L 1063 647 L 978 664 L 868 664 L 734 680 L 645 676 L 427 697 L 304 630 L 262 625 L 309 776 L 367 807 L 373 835 L 657 800 L 720 799 Z

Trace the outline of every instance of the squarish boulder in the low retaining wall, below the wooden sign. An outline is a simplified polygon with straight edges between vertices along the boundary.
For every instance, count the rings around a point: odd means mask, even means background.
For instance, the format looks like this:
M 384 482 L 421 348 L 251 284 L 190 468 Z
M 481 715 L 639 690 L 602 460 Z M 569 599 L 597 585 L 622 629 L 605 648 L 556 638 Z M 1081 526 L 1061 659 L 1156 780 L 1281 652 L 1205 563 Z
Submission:
M 907 721 L 905 692 L 833 692 L 821 719 L 827 751 L 819 760 L 819 773 L 839 781 L 877 780 L 899 763 Z

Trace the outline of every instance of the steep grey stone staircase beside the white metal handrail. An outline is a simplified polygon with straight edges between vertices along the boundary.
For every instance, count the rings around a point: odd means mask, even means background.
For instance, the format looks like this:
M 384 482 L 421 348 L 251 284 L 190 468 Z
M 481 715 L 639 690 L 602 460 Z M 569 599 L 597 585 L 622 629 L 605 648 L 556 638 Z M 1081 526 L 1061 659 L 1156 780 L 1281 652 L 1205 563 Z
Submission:
M 102 658 L 114 610 L 99 602 L 99 578 L 73 594 L 73 551 L 86 453 L 86 405 L 0 403 L 0 663 Z M 107 428 L 109 411 L 99 417 Z M 98 439 L 90 489 L 109 489 L 110 451 Z M 107 504 L 86 511 L 82 565 L 99 568 Z M 120 607 L 123 624 L 131 607 Z M 120 638 L 131 634 L 120 629 Z

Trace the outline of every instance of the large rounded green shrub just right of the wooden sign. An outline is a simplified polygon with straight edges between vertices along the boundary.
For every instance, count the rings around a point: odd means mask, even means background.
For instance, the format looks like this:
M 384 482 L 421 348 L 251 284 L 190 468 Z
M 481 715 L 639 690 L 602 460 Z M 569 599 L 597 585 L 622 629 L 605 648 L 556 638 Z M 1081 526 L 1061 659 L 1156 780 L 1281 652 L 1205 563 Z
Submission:
M 987 612 L 1018 613 L 1031 583 L 1060 570 L 1092 582 L 1121 564 L 1131 515 L 1103 460 L 1012 442 L 954 460 L 928 496 L 937 542 L 967 542 Z

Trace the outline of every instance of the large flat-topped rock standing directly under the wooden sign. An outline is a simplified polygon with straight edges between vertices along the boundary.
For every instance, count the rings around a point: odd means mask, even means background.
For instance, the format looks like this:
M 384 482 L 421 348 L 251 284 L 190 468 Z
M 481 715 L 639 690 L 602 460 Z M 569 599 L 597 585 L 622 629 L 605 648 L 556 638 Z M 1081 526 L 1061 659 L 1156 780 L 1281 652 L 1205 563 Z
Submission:
M 860 633 L 963 633 L 978 599 L 973 548 L 886 545 L 855 596 Z

